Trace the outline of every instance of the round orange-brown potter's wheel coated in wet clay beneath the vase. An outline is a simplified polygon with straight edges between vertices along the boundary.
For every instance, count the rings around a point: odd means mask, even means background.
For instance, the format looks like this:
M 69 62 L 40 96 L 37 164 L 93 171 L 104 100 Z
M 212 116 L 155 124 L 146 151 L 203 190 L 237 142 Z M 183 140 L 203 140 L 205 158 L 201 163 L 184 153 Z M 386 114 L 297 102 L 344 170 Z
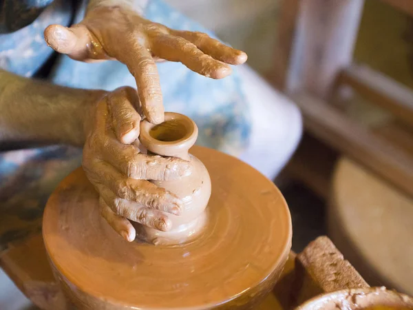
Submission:
M 205 233 L 188 245 L 127 242 L 98 210 L 83 170 L 47 202 L 43 237 L 56 276 L 80 309 L 210 309 L 252 304 L 290 250 L 291 221 L 273 183 L 237 159 L 193 147 L 209 170 Z M 220 307 L 218 307 L 220 305 Z

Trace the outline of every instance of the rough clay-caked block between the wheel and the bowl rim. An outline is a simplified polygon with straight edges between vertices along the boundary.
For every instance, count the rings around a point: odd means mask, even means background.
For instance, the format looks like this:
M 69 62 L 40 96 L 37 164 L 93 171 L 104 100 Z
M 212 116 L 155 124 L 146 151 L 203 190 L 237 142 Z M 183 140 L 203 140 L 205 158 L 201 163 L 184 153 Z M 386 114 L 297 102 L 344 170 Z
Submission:
M 332 241 L 321 236 L 295 258 L 293 303 L 302 302 L 330 291 L 369 287 Z

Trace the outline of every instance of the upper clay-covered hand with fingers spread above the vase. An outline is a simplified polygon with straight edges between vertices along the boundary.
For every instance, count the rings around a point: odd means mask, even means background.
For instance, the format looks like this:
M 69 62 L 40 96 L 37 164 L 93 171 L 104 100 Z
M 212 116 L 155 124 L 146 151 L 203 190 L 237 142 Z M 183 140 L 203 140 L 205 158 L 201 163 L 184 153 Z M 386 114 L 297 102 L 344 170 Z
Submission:
M 172 30 L 122 6 L 97 6 L 70 28 L 50 25 L 45 41 L 79 61 L 125 63 L 136 79 L 143 112 L 151 123 L 162 123 L 164 118 L 156 59 L 178 61 L 194 72 L 222 79 L 231 74 L 228 64 L 239 65 L 247 58 L 207 34 Z

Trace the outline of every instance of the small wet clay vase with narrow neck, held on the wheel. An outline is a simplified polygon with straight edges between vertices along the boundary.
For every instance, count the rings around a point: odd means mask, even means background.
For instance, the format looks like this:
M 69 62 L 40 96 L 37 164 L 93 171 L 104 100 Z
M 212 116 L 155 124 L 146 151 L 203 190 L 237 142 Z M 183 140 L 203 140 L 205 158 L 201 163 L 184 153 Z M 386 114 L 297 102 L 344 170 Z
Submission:
M 138 238 L 155 245 L 176 245 L 196 238 L 207 221 L 207 207 L 211 196 L 211 178 L 204 164 L 189 154 L 189 149 L 198 138 L 198 127 L 191 118 L 178 113 L 165 113 L 165 121 L 153 125 L 149 121 L 140 123 L 139 140 L 143 152 L 160 156 L 172 156 L 191 162 L 193 170 L 189 176 L 178 180 L 151 182 L 176 194 L 183 202 L 182 214 L 168 214 L 172 228 L 158 231 L 135 223 Z

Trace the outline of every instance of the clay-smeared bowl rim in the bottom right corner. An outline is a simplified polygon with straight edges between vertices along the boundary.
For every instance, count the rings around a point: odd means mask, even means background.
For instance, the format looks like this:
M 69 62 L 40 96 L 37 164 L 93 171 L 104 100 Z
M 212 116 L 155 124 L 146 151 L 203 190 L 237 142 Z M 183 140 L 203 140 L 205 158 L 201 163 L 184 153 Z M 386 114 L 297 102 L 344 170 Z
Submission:
M 385 287 L 368 289 L 344 289 L 322 294 L 297 307 L 296 310 L 407 310 L 413 309 L 413 298 L 389 291 Z

